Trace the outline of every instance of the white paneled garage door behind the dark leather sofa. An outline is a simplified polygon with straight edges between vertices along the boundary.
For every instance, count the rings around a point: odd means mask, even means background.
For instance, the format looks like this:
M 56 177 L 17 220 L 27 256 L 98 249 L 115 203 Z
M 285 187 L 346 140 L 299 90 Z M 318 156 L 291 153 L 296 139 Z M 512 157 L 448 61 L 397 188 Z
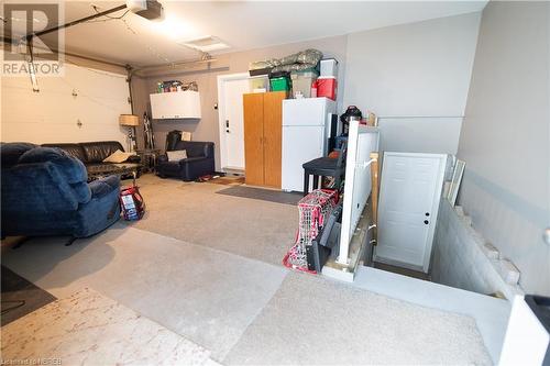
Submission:
M 32 91 L 28 77 L 2 77 L 1 140 L 36 144 L 117 140 L 127 147 L 127 130 L 119 126 L 119 115 L 131 110 L 125 76 L 65 67 L 62 78 L 38 77 L 40 92 Z

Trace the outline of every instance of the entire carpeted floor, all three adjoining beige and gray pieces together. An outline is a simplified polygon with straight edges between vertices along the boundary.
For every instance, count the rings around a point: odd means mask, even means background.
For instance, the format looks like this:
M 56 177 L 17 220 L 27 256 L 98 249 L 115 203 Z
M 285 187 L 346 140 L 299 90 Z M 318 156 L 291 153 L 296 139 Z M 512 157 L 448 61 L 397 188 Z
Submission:
M 284 268 L 295 207 L 221 185 L 139 185 L 143 220 L 73 246 L 31 240 L 3 265 L 58 298 L 92 288 L 228 364 L 490 363 L 470 317 Z

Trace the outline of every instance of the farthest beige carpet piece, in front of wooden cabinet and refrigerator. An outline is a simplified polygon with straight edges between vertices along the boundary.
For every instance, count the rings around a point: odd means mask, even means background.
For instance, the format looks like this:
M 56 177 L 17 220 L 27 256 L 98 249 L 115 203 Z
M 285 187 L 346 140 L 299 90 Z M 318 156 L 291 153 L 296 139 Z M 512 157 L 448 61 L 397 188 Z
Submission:
M 276 265 L 295 240 L 296 207 L 215 195 L 227 186 L 153 175 L 138 185 L 147 212 L 134 228 Z

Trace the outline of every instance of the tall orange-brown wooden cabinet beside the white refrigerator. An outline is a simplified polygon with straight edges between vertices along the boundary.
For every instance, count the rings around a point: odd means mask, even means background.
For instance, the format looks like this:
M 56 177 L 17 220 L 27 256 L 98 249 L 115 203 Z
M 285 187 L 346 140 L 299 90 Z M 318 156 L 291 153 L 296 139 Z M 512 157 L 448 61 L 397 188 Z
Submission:
M 286 91 L 243 96 L 244 177 L 248 185 L 280 188 L 285 98 Z

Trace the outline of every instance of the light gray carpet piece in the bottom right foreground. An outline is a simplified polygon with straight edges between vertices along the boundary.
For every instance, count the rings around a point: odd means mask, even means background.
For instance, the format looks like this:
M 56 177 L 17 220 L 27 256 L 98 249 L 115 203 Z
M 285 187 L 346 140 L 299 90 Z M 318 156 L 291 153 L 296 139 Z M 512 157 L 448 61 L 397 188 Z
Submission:
M 290 273 L 226 365 L 491 365 L 470 317 Z

